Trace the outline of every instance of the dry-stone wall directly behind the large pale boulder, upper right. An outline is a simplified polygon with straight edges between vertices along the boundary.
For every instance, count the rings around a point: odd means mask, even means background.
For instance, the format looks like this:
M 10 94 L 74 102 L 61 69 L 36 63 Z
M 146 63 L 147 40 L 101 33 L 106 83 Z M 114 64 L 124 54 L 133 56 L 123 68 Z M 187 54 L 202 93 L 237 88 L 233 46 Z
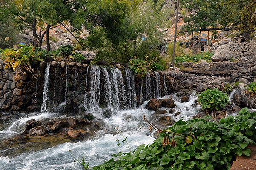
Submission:
M 204 51 L 212 51 L 215 53 L 217 48 L 222 45 L 227 45 L 227 47 L 232 51 L 232 57 L 234 60 L 239 61 L 247 61 L 250 59 L 251 54 L 249 52 L 250 48 L 252 48 L 253 42 L 243 42 L 243 43 L 233 43 L 233 44 L 221 44 L 221 45 L 211 45 L 205 46 Z

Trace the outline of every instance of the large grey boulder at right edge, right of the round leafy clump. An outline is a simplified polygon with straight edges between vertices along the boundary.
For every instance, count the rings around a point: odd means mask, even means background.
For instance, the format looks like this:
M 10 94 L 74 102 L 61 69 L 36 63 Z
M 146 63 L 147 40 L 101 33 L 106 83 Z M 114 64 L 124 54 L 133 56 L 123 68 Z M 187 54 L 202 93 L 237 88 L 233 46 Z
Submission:
M 233 100 L 241 108 L 256 108 L 256 96 L 251 96 L 244 83 L 240 83 L 237 86 Z

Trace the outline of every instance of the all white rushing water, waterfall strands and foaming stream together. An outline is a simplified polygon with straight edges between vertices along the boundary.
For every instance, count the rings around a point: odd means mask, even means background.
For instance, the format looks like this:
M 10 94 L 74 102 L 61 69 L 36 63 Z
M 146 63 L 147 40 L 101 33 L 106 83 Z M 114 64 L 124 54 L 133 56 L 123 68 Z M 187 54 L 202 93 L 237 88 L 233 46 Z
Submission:
M 21 134 L 25 130 L 26 121 L 30 119 L 47 122 L 56 118 L 67 117 L 67 115 L 64 115 L 63 113 L 47 111 L 49 67 L 50 66 L 47 65 L 43 92 L 44 99 L 41 106 L 41 112 L 24 114 L 20 116 L 20 118 L 8 122 L 8 125 L 6 125 L 5 128 L 0 129 L 1 141 Z M 74 162 L 75 159 L 68 150 L 72 149 L 72 153 L 76 158 L 81 159 L 84 157 L 85 161 L 89 162 L 89 166 L 93 167 L 111 159 L 112 154 L 118 153 L 117 139 L 121 143 L 120 150 L 128 152 L 128 146 L 125 142 L 122 142 L 122 135 L 125 137 L 128 136 L 127 142 L 131 150 L 136 149 L 140 144 L 151 144 L 154 142 L 154 133 L 150 133 L 148 130 L 149 124 L 143 120 L 143 113 L 149 122 L 158 121 L 156 120 L 154 111 L 145 109 L 145 105 L 148 103 L 149 99 L 152 97 L 159 97 L 161 94 L 158 72 L 154 72 L 153 77 L 150 77 L 150 74 L 147 74 L 145 78 L 145 94 L 142 94 L 142 91 L 140 91 L 140 94 L 147 101 L 141 105 L 141 108 L 134 109 L 136 105 L 136 94 L 134 76 L 131 73 L 131 70 L 128 69 L 125 71 L 125 83 L 123 82 L 124 77 L 122 77 L 120 70 L 116 68 L 107 71 L 105 68 L 94 66 L 90 69 L 90 74 L 88 71 L 89 68 L 87 69 L 85 81 L 86 86 L 83 106 L 87 108 L 88 113 L 93 113 L 94 117 L 102 119 L 105 124 L 104 127 L 96 132 L 95 136 L 89 140 L 65 142 L 53 147 L 44 147 L 38 151 L 26 150 L 21 154 L 13 153 L 7 157 L 0 156 L 1 170 L 79 170 L 82 169 L 81 165 Z M 101 93 L 100 75 L 103 75 L 105 85 L 104 97 L 107 107 L 104 109 L 99 105 L 99 94 Z M 88 85 L 87 78 L 90 78 L 90 84 Z M 152 84 L 150 82 L 152 82 Z M 166 89 L 164 94 L 166 94 Z M 170 116 L 175 121 L 180 119 L 188 120 L 201 110 L 199 105 L 195 105 L 194 101 L 197 99 L 195 94 L 190 96 L 188 102 L 181 102 L 180 98 L 176 97 L 175 94 L 172 94 L 172 96 L 177 105 L 175 107 L 175 112 L 180 112 L 181 114 L 174 116 L 174 114 L 169 114 L 170 108 L 163 108 L 166 109 L 168 113 L 161 116 Z M 167 97 L 168 96 L 165 96 L 163 98 Z M 62 105 L 65 105 L 65 103 L 66 102 L 63 102 Z M 102 116 L 102 113 L 105 112 L 105 110 L 111 112 L 111 116 Z M 81 118 L 81 115 L 73 117 Z M 116 129 L 116 127 L 118 127 L 118 129 Z M 159 125 L 159 128 L 163 127 L 160 127 Z M 122 135 L 117 130 L 122 131 Z M 0 154 L 5 151 L 6 150 L 0 150 Z

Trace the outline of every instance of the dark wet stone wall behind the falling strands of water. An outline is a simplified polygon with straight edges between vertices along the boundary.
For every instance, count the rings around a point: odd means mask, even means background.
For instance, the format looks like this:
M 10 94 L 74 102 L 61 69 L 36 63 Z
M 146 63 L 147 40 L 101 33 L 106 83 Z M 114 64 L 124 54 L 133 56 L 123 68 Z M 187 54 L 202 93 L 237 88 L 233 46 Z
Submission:
M 39 72 L 38 77 L 33 77 L 29 73 L 15 73 L 11 68 L 4 69 L 5 64 L 0 60 L 0 109 L 2 111 L 18 111 L 18 112 L 33 112 L 42 110 L 43 98 L 44 98 L 44 83 L 45 83 L 45 71 L 47 65 L 49 68 L 49 82 L 46 99 L 47 111 L 56 112 L 79 112 L 84 111 L 85 96 L 92 95 L 94 91 L 99 91 L 99 94 L 95 94 L 97 100 L 99 100 L 99 107 L 105 107 L 108 105 L 108 100 L 114 101 L 114 96 L 110 95 L 110 90 L 114 88 L 105 86 L 107 81 L 112 83 L 113 76 L 116 74 L 115 66 L 107 67 L 101 65 L 87 65 L 85 63 L 75 62 L 35 62 L 32 68 Z M 97 68 L 96 68 L 97 67 Z M 92 69 L 96 68 L 96 69 Z M 117 80 L 118 88 L 120 83 L 123 83 L 123 89 L 119 89 L 119 93 L 127 91 L 128 94 L 120 95 L 120 108 L 126 108 L 126 102 L 135 102 L 134 105 L 140 105 L 145 100 L 149 100 L 153 97 L 163 97 L 166 94 L 171 94 L 175 91 L 175 80 L 173 77 L 162 71 L 152 71 L 148 73 L 148 76 L 143 79 L 137 78 L 133 75 L 128 75 L 128 68 L 120 68 L 118 73 L 121 78 Z M 91 74 L 93 71 L 98 71 L 98 74 Z M 116 76 L 116 75 L 115 75 Z M 100 77 L 95 83 L 97 89 L 92 86 L 96 77 Z M 98 79 L 98 78 L 97 78 Z M 149 80 L 148 80 L 149 79 Z M 122 80 L 123 82 L 119 82 Z M 133 81 L 134 87 L 128 85 L 128 82 Z M 147 81 L 150 81 L 150 85 Z M 115 82 L 115 83 L 117 83 Z M 158 87 L 156 86 L 158 84 Z M 116 87 L 117 87 L 116 86 Z M 148 91 L 148 87 L 151 91 Z M 135 88 L 135 89 L 131 89 Z M 158 89 L 159 88 L 159 89 Z M 131 96 L 131 93 L 136 93 L 135 96 Z M 148 96 L 145 94 L 149 93 Z M 143 95 L 141 95 L 143 94 Z M 99 95 L 99 96 L 97 96 Z M 128 96 L 127 96 L 128 95 Z M 128 101 L 128 98 L 131 101 Z M 89 99 L 90 100 L 90 99 Z M 93 101 L 91 101 L 93 102 Z M 96 101 L 97 102 L 97 101 Z

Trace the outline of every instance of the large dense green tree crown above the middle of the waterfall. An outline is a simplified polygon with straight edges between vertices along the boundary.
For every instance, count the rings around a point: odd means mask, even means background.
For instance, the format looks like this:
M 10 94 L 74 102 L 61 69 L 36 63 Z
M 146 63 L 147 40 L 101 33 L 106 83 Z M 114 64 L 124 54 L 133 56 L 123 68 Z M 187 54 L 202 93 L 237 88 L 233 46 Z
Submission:
M 144 59 L 156 55 L 161 42 L 159 26 L 163 23 L 163 0 L 87 0 L 76 6 L 76 16 L 70 23 L 77 29 L 89 30 L 82 40 L 96 59 L 128 62 L 135 56 Z M 82 23 L 82 24 L 81 24 Z

